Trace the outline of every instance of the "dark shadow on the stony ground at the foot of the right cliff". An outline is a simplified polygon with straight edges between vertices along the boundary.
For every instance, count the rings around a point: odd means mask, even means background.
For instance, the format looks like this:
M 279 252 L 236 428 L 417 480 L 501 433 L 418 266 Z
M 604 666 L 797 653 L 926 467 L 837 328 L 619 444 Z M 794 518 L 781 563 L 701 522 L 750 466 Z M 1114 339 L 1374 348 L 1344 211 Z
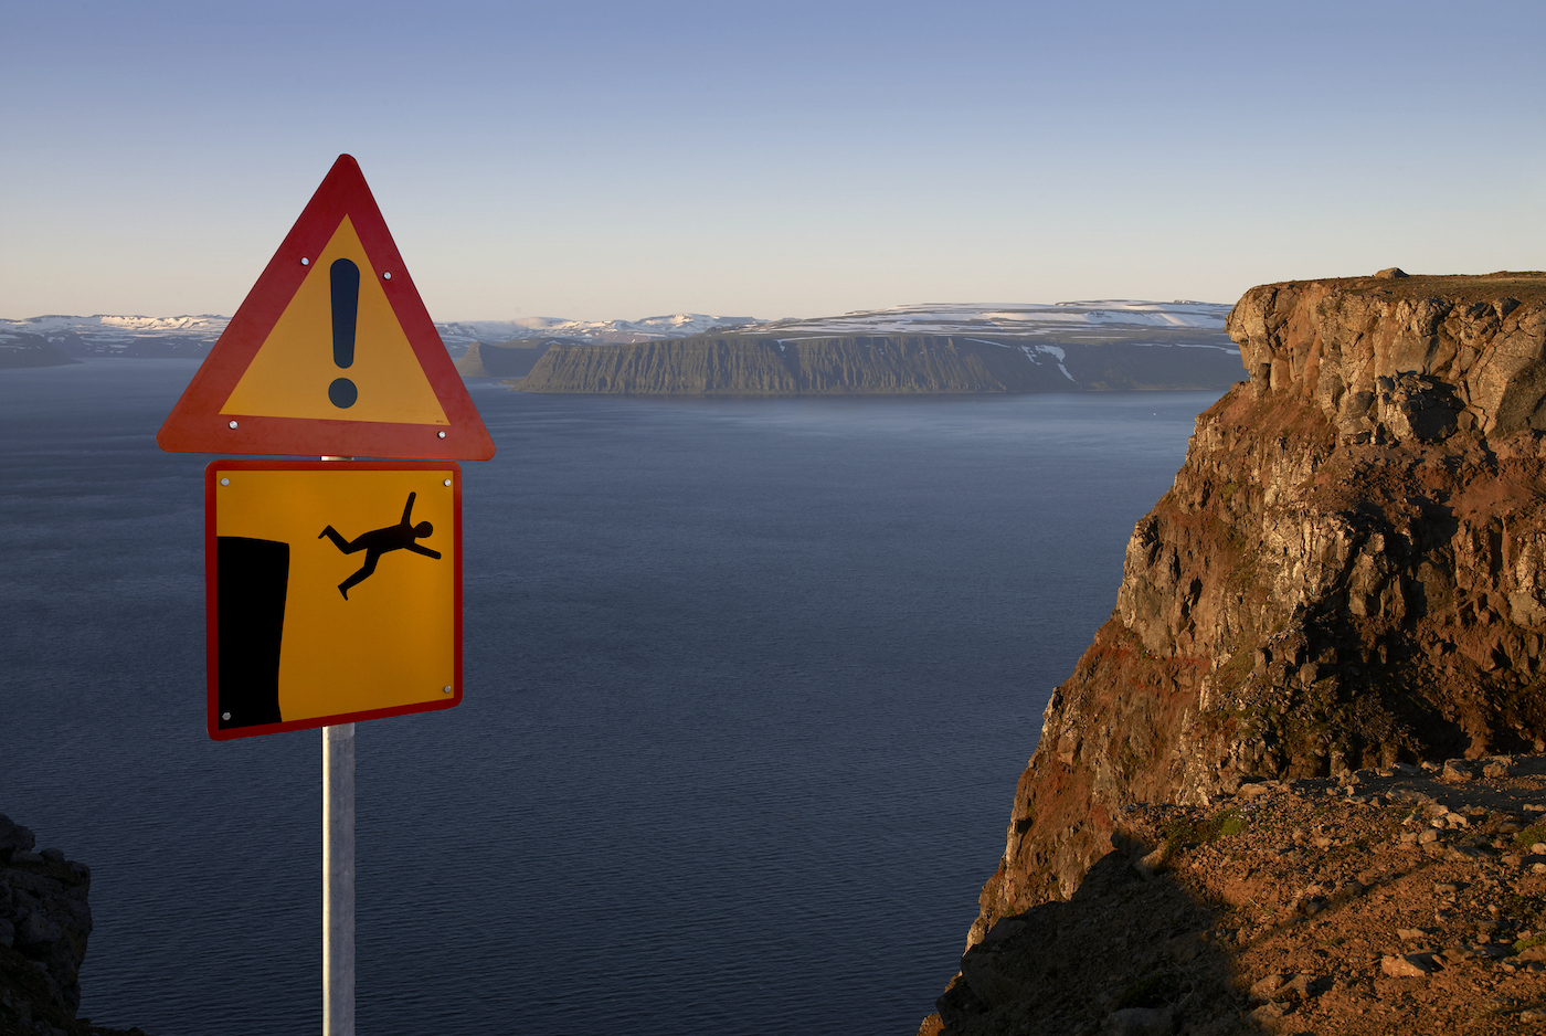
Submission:
M 1124 843 L 1067 901 L 999 920 L 938 999 L 943 1036 L 1258 1033 L 1211 940 L 1218 905 L 1198 901 Z M 1156 863 L 1152 857 L 1147 863 Z M 1144 872 L 1150 877 L 1144 877 Z

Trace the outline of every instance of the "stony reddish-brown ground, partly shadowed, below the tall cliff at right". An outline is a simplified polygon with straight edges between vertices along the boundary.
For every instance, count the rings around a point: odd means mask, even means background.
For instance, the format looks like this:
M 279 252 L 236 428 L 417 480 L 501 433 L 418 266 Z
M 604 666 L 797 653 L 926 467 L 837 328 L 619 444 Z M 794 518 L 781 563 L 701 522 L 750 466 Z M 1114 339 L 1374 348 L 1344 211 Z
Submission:
M 1546 756 L 1132 804 L 1115 841 L 920 1033 L 1546 1033 Z

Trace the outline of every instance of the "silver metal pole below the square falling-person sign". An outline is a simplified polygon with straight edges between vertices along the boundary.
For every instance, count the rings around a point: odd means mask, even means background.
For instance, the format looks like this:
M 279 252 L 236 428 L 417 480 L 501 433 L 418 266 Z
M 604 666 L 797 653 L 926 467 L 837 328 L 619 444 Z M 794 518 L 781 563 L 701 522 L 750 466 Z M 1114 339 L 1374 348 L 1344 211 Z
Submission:
M 354 1036 L 354 724 L 322 728 L 322 1036 Z

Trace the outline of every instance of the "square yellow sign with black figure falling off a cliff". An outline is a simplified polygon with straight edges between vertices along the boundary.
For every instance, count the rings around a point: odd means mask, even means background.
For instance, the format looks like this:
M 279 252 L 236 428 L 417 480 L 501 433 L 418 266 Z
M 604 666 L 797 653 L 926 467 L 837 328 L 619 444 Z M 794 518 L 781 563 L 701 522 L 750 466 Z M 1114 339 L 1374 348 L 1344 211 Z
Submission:
M 209 733 L 218 741 L 461 702 L 461 469 L 206 469 Z

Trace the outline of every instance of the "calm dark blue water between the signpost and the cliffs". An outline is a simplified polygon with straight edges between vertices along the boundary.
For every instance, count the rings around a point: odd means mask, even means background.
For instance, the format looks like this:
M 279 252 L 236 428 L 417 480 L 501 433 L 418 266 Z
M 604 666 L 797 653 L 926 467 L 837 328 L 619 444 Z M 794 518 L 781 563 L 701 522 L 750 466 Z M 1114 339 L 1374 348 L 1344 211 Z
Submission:
M 0 812 L 93 866 L 82 1014 L 318 1031 L 320 734 L 204 734 L 192 373 L 0 371 Z M 357 727 L 360 1033 L 912 1033 L 1212 396 L 473 393 L 465 704 Z

